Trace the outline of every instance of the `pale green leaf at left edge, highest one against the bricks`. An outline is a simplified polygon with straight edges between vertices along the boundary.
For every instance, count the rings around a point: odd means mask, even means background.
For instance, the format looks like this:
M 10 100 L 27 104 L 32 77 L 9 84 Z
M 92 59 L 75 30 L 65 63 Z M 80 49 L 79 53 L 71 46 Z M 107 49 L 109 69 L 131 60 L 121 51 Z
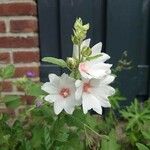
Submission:
M 6 67 L 0 68 L 0 77 L 2 79 L 8 79 L 13 77 L 15 72 L 15 67 L 12 64 L 7 65 Z

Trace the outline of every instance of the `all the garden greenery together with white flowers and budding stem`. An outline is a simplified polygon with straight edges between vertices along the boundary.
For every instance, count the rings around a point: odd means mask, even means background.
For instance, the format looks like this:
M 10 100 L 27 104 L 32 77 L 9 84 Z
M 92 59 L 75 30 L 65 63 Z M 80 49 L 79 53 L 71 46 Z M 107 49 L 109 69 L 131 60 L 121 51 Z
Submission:
M 126 98 L 115 83 L 131 61 L 124 52 L 117 66 L 107 63 L 102 43 L 91 46 L 86 39 L 89 27 L 80 18 L 74 23 L 72 57 L 42 59 L 62 67 L 61 76 L 50 73 L 46 83 L 26 76 L 14 82 L 35 97 L 32 105 L 22 107 L 20 96 L 2 94 L 15 68 L 0 68 L 0 105 L 15 111 L 0 114 L 0 150 L 150 149 L 150 100 L 120 106 Z

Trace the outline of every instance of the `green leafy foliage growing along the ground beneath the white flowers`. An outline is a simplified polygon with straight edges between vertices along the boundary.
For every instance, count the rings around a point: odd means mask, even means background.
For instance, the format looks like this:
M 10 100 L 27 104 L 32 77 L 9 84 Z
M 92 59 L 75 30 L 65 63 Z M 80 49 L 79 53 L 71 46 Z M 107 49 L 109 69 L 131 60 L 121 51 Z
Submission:
M 1 81 L 13 73 L 12 65 L 0 68 Z M 130 106 L 121 109 L 119 102 L 125 98 L 116 89 L 116 94 L 110 97 L 112 108 L 105 110 L 103 116 L 94 112 L 85 115 L 81 108 L 73 115 L 56 116 L 52 105 L 42 101 L 45 93 L 41 91 L 41 83 L 23 77 L 14 84 L 37 99 L 15 116 L 0 114 L 1 150 L 150 149 L 150 100 L 139 103 L 135 99 Z M 15 110 L 22 104 L 15 95 L 0 95 L 0 103 Z

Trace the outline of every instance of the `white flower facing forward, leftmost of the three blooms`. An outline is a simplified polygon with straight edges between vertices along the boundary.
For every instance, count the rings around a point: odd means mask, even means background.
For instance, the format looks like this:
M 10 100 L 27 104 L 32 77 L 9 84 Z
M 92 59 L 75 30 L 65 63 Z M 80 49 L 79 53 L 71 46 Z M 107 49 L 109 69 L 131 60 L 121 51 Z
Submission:
M 76 105 L 75 100 L 75 80 L 67 74 L 62 74 L 61 77 L 50 74 L 50 82 L 46 82 L 42 86 L 42 90 L 49 93 L 45 100 L 53 103 L 54 112 L 58 115 L 63 109 L 72 114 Z

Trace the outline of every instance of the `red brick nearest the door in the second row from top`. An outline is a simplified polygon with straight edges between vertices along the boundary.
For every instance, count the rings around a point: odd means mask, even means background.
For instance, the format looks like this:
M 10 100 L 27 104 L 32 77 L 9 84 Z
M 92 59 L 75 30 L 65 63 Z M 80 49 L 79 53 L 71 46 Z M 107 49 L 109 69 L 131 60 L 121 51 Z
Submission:
M 10 21 L 11 32 L 36 32 L 37 21 L 36 20 L 12 20 Z

